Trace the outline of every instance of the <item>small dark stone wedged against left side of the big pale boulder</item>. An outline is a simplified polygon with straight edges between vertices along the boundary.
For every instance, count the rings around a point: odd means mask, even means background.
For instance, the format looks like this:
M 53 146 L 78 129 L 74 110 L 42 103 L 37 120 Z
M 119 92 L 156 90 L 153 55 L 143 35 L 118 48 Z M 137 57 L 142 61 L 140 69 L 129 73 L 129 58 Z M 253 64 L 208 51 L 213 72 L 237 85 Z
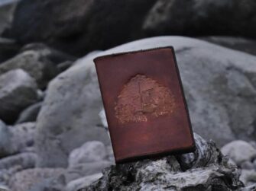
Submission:
M 42 102 L 38 102 L 38 103 L 34 103 L 30 107 L 23 110 L 18 116 L 16 124 L 36 121 L 37 115 L 41 110 L 41 107 L 42 107 Z

